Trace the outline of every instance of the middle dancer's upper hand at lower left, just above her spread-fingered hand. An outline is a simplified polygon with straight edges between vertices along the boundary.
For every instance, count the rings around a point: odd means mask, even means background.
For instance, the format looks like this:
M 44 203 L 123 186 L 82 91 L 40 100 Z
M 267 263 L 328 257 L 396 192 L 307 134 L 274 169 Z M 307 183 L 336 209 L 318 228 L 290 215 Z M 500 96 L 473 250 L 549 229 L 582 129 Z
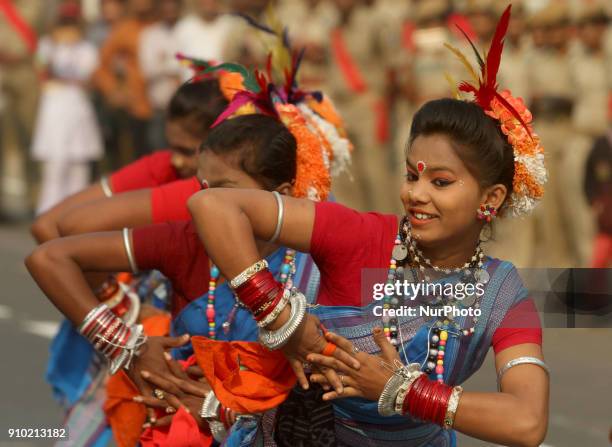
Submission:
M 156 371 L 162 376 L 172 375 L 164 354 L 167 350 L 178 348 L 189 341 L 189 335 L 181 337 L 148 337 L 147 342 L 142 346 L 141 352 L 137 357 L 134 357 L 130 369 L 127 371 L 128 376 L 138 387 L 140 394 L 143 396 L 152 396 L 153 387 L 143 379 L 142 371 Z M 155 411 L 149 407 L 147 409 L 147 418 L 155 421 Z

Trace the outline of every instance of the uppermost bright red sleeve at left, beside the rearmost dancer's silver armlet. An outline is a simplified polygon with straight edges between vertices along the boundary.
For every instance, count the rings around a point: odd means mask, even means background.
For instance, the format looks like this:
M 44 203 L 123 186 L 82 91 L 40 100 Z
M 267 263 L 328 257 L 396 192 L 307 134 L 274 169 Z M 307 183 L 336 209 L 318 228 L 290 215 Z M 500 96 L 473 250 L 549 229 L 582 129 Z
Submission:
M 170 163 L 172 152 L 157 151 L 115 171 L 110 176 L 114 193 L 153 188 L 177 180 L 178 173 Z

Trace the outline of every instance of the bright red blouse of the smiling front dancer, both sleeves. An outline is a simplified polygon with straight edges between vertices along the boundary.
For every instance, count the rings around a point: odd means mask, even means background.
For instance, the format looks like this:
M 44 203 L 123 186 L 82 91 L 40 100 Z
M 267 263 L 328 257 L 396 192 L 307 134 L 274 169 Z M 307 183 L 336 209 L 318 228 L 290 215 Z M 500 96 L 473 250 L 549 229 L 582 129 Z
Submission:
M 318 202 L 310 253 L 321 271 L 318 303 L 361 306 L 362 269 L 387 269 L 397 236 L 397 217 L 360 213 Z M 540 319 L 531 298 L 514 306 L 493 335 L 495 353 L 522 343 L 542 344 Z

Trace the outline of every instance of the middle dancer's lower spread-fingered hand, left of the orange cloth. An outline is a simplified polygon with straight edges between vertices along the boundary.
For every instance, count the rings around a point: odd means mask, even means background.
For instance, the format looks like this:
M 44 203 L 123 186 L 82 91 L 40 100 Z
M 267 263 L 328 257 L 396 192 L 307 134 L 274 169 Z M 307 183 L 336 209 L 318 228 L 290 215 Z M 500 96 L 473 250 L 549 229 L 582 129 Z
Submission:
M 164 357 L 170 374 L 159 374 L 148 370 L 143 370 L 140 373 L 142 378 L 152 387 L 153 392 L 150 395 L 137 396 L 134 401 L 142 402 L 151 409 L 159 409 L 167 413 L 166 416 L 159 419 L 149 419 L 145 427 L 169 425 L 174 413 L 179 408 L 183 408 L 191 413 L 200 428 L 207 429 L 208 424 L 199 416 L 204 398 L 210 392 L 210 386 L 206 379 L 192 378 L 188 372 L 183 371 L 181 365 L 173 360 L 168 353 L 165 353 Z M 193 367 L 189 369 L 195 370 Z

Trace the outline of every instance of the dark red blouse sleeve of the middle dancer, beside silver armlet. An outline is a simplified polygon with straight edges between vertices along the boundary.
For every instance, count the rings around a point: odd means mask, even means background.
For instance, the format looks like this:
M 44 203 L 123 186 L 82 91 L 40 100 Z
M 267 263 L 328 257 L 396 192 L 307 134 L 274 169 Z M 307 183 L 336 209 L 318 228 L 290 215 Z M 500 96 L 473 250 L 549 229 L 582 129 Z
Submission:
M 209 258 L 192 221 L 134 228 L 132 242 L 138 268 L 159 270 L 172 283 L 173 316 L 208 290 Z

